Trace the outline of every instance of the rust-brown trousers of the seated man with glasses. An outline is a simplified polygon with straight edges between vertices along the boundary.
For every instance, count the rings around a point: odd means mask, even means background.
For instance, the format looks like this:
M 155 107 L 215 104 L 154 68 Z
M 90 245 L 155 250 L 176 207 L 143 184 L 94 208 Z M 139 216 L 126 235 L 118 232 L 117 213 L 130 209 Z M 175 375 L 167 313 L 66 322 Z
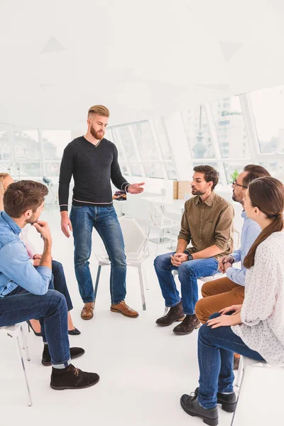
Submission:
M 229 278 L 219 278 L 202 285 L 203 299 L 195 305 L 195 315 L 204 324 L 210 315 L 231 305 L 244 302 L 244 286 L 234 283 Z

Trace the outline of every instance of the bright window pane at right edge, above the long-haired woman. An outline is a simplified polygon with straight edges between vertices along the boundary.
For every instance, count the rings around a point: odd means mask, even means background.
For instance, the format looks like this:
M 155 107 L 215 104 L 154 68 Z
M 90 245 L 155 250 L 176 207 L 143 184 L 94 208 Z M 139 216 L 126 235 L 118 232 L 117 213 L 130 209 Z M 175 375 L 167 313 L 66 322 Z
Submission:
M 261 153 L 284 154 L 284 86 L 250 96 Z

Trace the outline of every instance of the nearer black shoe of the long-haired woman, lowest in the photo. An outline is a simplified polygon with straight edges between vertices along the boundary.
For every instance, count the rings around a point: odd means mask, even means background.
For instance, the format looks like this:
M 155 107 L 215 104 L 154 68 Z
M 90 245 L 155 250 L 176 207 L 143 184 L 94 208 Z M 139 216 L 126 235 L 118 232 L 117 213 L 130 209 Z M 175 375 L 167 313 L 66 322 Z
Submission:
M 197 401 L 197 396 L 190 395 L 182 395 L 180 398 L 180 405 L 182 406 L 182 410 L 185 410 L 185 413 L 191 415 L 192 417 L 201 417 L 203 422 L 209 426 L 217 426 L 218 425 L 218 409 L 217 407 L 210 408 L 210 410 L 206 410 L 199 405 Z

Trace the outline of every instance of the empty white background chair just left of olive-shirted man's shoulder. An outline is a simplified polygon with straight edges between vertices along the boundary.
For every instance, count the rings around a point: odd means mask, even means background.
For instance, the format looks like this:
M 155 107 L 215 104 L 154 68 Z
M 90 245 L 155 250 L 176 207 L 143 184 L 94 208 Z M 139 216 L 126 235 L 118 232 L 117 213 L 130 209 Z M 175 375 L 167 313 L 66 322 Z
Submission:
M 158 228 L 159 229 L 159 238 L 153 241 L 157 244 L 157 248 L 155 250 L 155 257 L 158 253 L 158 248 L 161 243 L 168 243 L 168 239 L 164 240 L 164 234 L 165 232 L 170 233 L 170 246 L 172 246 L 173 243 L 173 228 L 175 226 L 178 226 L 180 228 L 180 222 L 170 219 L 170 217 L 166 217 L 161 207 L 157 204 L 153 204 L 151 202 L 149 204 L 149 214 L 151 217 L 151 226 L 149 228 L 148 236 L 150 234 L 151 228 Z

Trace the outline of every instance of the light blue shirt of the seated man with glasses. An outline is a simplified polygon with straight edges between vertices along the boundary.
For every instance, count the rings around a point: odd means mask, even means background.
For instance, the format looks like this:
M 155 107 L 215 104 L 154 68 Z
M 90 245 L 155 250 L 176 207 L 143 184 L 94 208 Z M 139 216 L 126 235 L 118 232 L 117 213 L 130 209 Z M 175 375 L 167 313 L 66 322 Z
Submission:
M 259 226 L 254 220 L 249 219 L 246 216 L 246 212 L 242 212 L 241 217 L 244 217 L 244 224 L 241 229 L 241 248 L 231 253 L 235 262 L 241 261 L 241 269 L 228 268 L 226 270 L 226 276 L 234 283 L 244 285 L 246 279 L 246 268 L 244 268 L 244 258 L 249 253 L 249 249 L 253 245 L 256 238 L 261 233 L 261 226 Z

